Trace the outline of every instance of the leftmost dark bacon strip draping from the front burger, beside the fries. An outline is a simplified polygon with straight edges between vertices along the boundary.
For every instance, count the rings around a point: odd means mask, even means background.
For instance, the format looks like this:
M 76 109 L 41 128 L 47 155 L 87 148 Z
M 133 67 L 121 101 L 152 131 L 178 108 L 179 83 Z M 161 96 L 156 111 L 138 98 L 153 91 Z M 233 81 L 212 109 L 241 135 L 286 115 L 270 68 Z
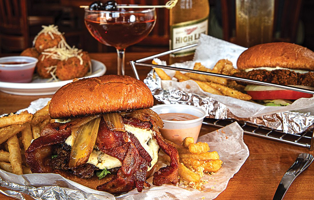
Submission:
M 63 143 L 71 135 L 71 129 L 60 129 L 60 123 L 46 125 L 41 136 L 35 139 L 25 151 L 26 162 L 32 173 L 51 173 L 47 162 L 51 159 L 51 145 Z

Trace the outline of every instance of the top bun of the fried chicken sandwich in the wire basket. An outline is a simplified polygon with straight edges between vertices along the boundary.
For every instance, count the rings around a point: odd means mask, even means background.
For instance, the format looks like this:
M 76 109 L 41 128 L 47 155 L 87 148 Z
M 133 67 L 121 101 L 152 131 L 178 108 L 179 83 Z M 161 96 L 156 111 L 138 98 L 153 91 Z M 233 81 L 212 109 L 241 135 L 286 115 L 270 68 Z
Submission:
M 314 52 L 287 42 L 259 44 L 246 49 L 237 60 L 238 69 L 283 67 L 314 70 Z

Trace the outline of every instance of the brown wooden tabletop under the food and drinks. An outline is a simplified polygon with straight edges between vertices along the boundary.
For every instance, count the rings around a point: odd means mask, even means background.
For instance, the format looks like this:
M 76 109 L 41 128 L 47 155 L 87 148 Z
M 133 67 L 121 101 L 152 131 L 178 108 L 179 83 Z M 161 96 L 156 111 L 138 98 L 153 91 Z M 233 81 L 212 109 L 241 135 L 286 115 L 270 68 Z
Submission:
M 126 61 L 144 58 L 154 53 L 126 53 Z M 116 53 L 91 53 L 91 58 L 103 62 L 106 74 L 116 74 Z M 140 79 L 149 72 L 148 67 L 138 66 Z M 134 77 L 127 62 L 126 75 Z M 29 106 L 30 102 L 40 97 L 51 96 L 16 96 L 0 92 L 0 114 L 17 111 Z M 201 135 L 213 130 L 203 125 Z M 255 136 L 244 135 L 244 142 L 250 150 L 250 156 L 238 173 L 230 179 L 227 188 L 217 199 L 272 199 L 276 188 L 300 153 L 312 153 L 305 147 L 297 147 L 282 142 L 274 142 Z M 314 164 L 302 172 L 290 186 L 284 199 L 314 199 Z M 0 199 L 12 199 L 0 194 Z

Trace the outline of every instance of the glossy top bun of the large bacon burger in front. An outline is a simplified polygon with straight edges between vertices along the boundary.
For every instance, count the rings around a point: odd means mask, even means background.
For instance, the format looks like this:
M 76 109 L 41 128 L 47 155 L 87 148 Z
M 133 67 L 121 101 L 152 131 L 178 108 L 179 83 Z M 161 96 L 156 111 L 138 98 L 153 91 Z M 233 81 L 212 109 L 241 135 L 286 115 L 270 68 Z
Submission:
M 104 75 L 80 79 L 62 86 L 51 98 L 52 119 L 150 108 L 149 88 L 130 76 Z

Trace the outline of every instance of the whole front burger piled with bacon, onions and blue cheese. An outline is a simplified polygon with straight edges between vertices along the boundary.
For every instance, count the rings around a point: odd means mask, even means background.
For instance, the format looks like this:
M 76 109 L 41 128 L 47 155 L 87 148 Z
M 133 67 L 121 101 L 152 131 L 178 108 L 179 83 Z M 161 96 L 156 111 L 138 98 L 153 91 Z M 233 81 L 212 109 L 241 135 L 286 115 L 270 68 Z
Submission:
M 31 143 L 26 162 L 33 173 L 57 173 L 111 194 L 141 192 L 161 148 L 171 163 L 154 173 L 153 184 L 176 184 L 178 152 L 160 135 L 163 122 L 152 106 L 149 88 L 129 76 L 69 83 L 53 95 L 49 113 L 56 122 Z

